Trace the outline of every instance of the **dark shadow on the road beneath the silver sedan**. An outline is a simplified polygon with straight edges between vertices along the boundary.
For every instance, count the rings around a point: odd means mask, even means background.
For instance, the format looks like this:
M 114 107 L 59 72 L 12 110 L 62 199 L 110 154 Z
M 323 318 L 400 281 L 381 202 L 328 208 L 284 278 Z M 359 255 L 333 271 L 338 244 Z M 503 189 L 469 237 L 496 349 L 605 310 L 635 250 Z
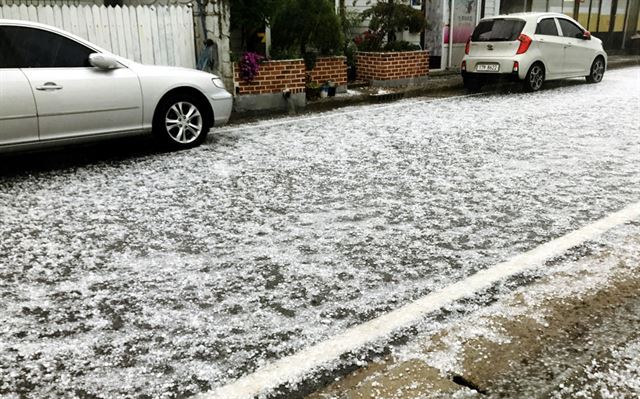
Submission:
M 152 137 L 134 136 L 87 144 L 0 154 L 0 178 L 119 162 L 166 152 Z

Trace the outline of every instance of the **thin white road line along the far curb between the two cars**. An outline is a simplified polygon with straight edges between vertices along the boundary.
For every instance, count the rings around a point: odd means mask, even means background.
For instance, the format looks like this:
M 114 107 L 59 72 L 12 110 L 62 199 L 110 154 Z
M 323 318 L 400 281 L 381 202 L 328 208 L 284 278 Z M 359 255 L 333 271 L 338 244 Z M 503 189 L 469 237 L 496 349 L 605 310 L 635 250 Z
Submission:
M 343 112 L 327 111 L 327 112 L 322 112 L 322 113 L 320 113 L 318 115 L 314 115 L 314 116 L 287 117 L 287 118 L 279 119 L 279 120 L 276 120 L 276 121 L 248 123 L 248 124 L 240 125 L 240 126 L 237 126 L 237 127 L 226 127 L 226 128 L 214 129 L 214 130 L 212 130 L 212 132 L 214 134 L 235 133 L 235 132 L 240 132 L 240 131 L 243 131 L 243 130 L 262 129 L 262 128 L 269 128 L 269 127 L 274 127 L 274 126 L 289 125 L 289 124 L 292 124 L 292 123 L 295 123 L 295 122 L 313 121 L 313 120 L 317 120 L 317 119 L 324 119 L 324 118 L 329 118 L 329 117 L 334 117 L 334 116 L 353 115 L 354 113 L 364 112 L 364 111 L 371 111 L 372 109 L 373 110 L 381 110 L 381 109 L 389 109 L 389 108 L 397 108 L 397 107 L 406 107 L 408 105 L 413 105 L 413 104 L 448 101 L 448 100 L 452 100 L 452 99 L 475 97 L 475 96 L 480 96 L 480 95 L 485 95 L 485 94 L 486 93 L 472 93 L 472 94 L 465 94 L 465 95 L 461 95 L 461 96 L 451 96 L 451 97 L 444 97 L 444 98 L 430 98 L 428 100 L 397 101 L 397 102 L 394 102 L 392 104 L 385 104 L 385 105 L 378 105 L 378 106 L 372 106 L 371 104 L 367 104 L 367 103 L 354 104 L 354 105 L 351 105 L 349 107 L 352 108 L 352 107 L 358 107 L 358 106 L 364 106 L 364 105 L 366 105 L 367 107 L 363 107 L 363 109 L 358 109 L 358 110 L 353 110 L 352 109 L 351 111 L 343 111 Z

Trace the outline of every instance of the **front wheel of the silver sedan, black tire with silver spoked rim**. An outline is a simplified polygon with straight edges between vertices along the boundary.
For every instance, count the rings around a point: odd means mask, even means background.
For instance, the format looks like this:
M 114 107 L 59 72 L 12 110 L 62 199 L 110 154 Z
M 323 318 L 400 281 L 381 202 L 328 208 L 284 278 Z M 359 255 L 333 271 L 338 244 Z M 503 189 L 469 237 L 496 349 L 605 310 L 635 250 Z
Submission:
M 172 150 L 199 146 L 212 125 L 206 107 L 208 104 L 186 93 L 162 99 L 153 116 L 153 134 Z

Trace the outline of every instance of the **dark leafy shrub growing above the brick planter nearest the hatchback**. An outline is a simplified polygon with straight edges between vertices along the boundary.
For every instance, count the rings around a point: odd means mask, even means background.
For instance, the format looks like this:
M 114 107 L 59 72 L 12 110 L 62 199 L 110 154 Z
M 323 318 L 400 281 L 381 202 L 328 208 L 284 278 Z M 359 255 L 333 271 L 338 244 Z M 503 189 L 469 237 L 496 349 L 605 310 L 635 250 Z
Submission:
M 427 27 L 425 16 L 408 4 L 396 0 L 378 0 L 378 3 L 362 12 L 363 19 L 371 18 L 369 29 L 387 36 L 387 43 L 396 41 L 396 32 L 408 29 L 411 33 L 420 33 Z

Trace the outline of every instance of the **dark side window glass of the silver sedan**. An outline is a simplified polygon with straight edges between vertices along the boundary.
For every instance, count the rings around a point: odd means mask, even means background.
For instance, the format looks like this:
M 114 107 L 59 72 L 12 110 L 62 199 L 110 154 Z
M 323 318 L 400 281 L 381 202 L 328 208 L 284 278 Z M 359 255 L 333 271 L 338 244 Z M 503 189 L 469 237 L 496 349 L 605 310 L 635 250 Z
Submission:
M 4 68 L 88 67 L 94 52 L 56 33 L 21 26 L 1 27 L 0 46 Z

